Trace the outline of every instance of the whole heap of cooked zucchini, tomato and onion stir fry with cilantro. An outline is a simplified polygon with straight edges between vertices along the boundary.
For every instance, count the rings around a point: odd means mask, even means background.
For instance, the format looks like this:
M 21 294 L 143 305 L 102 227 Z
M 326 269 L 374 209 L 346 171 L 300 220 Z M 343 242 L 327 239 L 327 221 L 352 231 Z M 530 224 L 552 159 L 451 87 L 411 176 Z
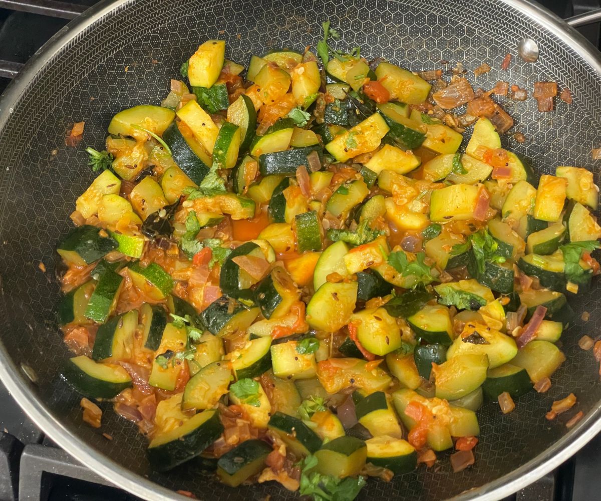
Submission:
M 245 78 L 206 41 L 189 87 L 112 118 L 58 322 L 64 377 L 154 468 L 350 501 L 439 451 L 471 465 L 484 401 L 548 389 L 601 227 L 591 172 L 536 180 L 488 118 L 457 132 L 427 81 L 327 28 L 320 60 L 253 55 Z

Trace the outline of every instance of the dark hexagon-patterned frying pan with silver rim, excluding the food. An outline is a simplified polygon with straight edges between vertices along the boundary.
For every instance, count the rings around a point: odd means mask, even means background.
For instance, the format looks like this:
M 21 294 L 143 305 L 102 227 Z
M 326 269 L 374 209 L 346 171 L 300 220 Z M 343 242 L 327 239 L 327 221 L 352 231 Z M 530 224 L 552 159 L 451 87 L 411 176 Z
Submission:
M 111 116 L 141 103 L 159 103 L 170 78 L 207 38 L 224 38 L 229 58 L 248 63 L 269 48 L 315 45 L 325 20 L 344 44 L 366 57 L 383 56 L 412 70 L 445 69 L 449 61 L 492 71 L 476 87 L 497 80 L 529 90 L 534 82 L 558 82 L 574 101 L 554 112 L 537 112 L 534 99 L 503 102 L 523 144 L 511 135 L 503 146 L 531 159 L 538 174 L 557 165 L 599 170 L 590 150 L 601 146 L 601 54 L 553 14 L 525 0 L 121 0 L 101 2 L 55 35 L 0 99 L 0 377 L 26 413 L 59 446 L 118 486 L 148 500 L 177 499 L 189 490 L 199 499 L 288 499 L 269 482 L 229 488 L 194 461 L 169 473 L 153 472 L 147 442 L 136 426 L 116 416 L 111 404 L 102 429 L 82 422 L 79 396 L 58 377 L 69 352 L 54 322 L 58 286 L 55 247 L 70 227 L 75 198 L 93 174 L 86 146 L 102 149 Z M 540 57 L 516 57 L 522 38 L 538 43 Z M 500 70 L 505 54 L 509 70 Z M 466 74 L 471 81 L 474 75 Z M 78 147 L 64 136 L 85 120 Z M 43 262 L 48 271 L 38 267 Z M 598 282 L 597 282 L 598 283 Z M 498 406 L 479 413 L 480 443 L 474 466 L 454 474 L 441 453 L 438 466 L 420 468 L 391 484 L 370 481 L 359 499 L 495 500 L 554 469 L 601 430 L 601 386 L 591 352 L 578 348 L 582 334 L 595 337 L 601 322 L 599 287 L 578 296 L 578 320 L 562 337 L 567 360 L 548 393 L 531 392 L 502 416 Z M 588 322 L 579 318 L 590 313 Z M 584 419 L 568 430 L 567 419 L 545 419 L 552 401 L 573 392 Z M 112 435 L 106 440 L 102 432 Z M 182 498 L 184 499 L 184 498 Z

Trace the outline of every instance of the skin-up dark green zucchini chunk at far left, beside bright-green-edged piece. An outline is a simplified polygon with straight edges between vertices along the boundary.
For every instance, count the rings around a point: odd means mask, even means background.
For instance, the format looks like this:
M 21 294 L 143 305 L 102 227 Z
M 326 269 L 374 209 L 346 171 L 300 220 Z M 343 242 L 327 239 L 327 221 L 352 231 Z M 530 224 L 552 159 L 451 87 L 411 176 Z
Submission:
M 71 230 L 58 244 L 56 251 L 67 262 L 75 266 L 91 265 L 118 247 L 118 242 L 109 236 L 101 236 L 102 228 L 84 224 Z

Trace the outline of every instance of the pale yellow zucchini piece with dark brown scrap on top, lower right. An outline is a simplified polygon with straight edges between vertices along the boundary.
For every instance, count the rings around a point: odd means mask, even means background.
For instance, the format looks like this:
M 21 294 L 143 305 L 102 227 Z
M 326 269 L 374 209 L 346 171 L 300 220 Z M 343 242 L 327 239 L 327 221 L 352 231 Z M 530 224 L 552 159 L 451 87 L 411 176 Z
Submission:
M 467 354 L 487 355 L 489 368 L 495 369 L 516 356 L 517 346 L 511 336 L 483 324 L 468 322 L 448 349 L 447 360 Z

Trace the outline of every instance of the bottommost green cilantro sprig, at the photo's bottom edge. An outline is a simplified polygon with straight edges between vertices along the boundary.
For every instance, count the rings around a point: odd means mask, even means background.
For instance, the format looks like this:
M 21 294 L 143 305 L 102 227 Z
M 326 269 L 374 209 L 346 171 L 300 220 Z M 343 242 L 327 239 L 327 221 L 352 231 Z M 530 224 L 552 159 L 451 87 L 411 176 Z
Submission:
M 353 501 L 365 485 L 361 475 L 341 479 L 314 471 L 317 458 L 313 455 L 308 455 L 299 466 L 302 467 L 299 494 L 312 496 L 314 501 Z

